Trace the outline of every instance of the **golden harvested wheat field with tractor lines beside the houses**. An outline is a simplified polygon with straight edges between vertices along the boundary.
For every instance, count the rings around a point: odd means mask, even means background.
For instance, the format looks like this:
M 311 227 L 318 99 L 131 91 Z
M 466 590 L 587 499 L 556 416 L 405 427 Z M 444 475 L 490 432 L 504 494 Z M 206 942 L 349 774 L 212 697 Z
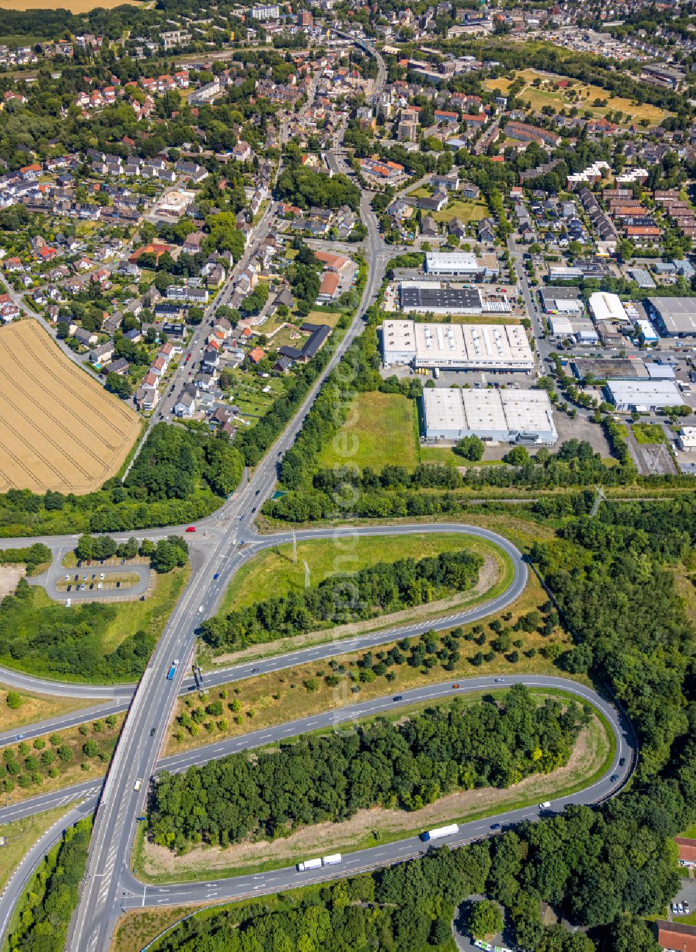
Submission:
M 0 491 L 85 493 L 126 459 L 140 420 L 36 321 L 0 327 Z

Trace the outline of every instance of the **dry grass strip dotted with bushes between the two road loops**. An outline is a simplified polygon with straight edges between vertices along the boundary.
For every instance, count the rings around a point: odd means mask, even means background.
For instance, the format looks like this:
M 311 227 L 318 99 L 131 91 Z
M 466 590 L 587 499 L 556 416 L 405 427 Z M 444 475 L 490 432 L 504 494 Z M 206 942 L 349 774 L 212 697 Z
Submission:
M 457 639 L 460 652 L 459 660 L 451 670 L 443 666 L 446 659 L 433 657 L 429 668 L 413 666 L 406 662 L 408 651 L 404 651 L 405 663 L 388 666 L 388 670 L 377 676 L 373 681 L 355 682 L 348 678 L 341 678 L 340 683 L 333 685 L 327 682 L 332 674 L 352 673 L 358 678 L 359 661 L 365 658 L 368 651 L 349 652 L 333 659 L 334 666 L 324 661 L 308 664 L 297 664 L 282 671 L 249 678 L 248 681 L 221 684 L 211 688 L 207 699 L 200 701 L 198 696 L 188 695 L 179 698 L 174 707 L 172 722 L 165 742 L 165 754 L 180 753 L 192 747 L 218 742 L 229 737 L 239 737 L 249 731 L 261 730 L 275 724 L 286 724 L 301 717 L 308 717 L 321 711 L 339 709 L 349 704 L 358 704 L 371 698 L 384 697 L 389 692 L 419 687 L 424 684 L 437 684 L 458 679 L 505 674 L 555 674 L 559 675 L 558 667 L 553 663 L 553 655 L 570 646 L 567 635 L 560 629 L 544 637 L 539 631 L 517 631 L 512 636 L 522 644 L 516 647 L 519 660 L 516 663 L 507 661 L 505 655 L 496 655 L 494 660 L 482 661 L 481 664 L 471 664 L 472 659 L 479 652 L 489 651 L 489 642 L 495 638 L 495 633 L 488 627 L 488 623 L 495 619 L 502 625 L 514 626 L 522 615 L 533 610 L 539 610 L 547 600 L 547 596 L 537 581 L 531 575 L 527 588 L 519 599 L 510 605 L 503 613 L 491 615 L 485 623 L 479 623 L 486 631 L 486 644 L 479 645 L 476 641 L 467 641 L 467 634 L 473 633 L 474 625 L 464 625 L 463 635 Z M 438 632 L 439 642 L 447 637 L 447 632 Z M 414 645 L 420 641 L 420 636 L 414 635 L 408 642 Z M 380 660 L 381 655 L 399 645 L 399 642 L 388 642 L 385 645 L 374 647 L 369 652 L 373 663 Z M 551 648 L 551 645 L 559 645 Z M 533 649 L 533 650 L 532 650 Z M 544 652 L 544 653 L 542 653 Z M 529 656 L 530 655 L 530 656 Z M 387 676 L 388 675 L 388 676 Z M 576 677 L 584 681 L 582 677 Z M 357 686 L 357 692 L 351 687 Z M 222 702 L 223 715 L 209 715 L 196 733 L 191 734 L 188 728 L 182 728 L 177 718 L 190 715 L 197 705 L 205 707 L 214 702 Z M 207 726 L 208 725 L 208 726 Z M 177 740 L 177 734 L 179 740 Z

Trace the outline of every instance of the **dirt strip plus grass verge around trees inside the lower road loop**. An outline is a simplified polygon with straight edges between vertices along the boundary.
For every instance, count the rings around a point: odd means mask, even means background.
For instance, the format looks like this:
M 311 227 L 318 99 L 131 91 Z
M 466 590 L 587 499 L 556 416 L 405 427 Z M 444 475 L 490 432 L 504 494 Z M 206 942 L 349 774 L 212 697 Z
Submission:
M 459 697 L 456 704 L 462 707 L 476 704 L 485 693 L 489 692 Z M 564 691 L 545 689 L 533 690 L 532 693 L 540 703 L 548 697 L 561 702 L 577 700 Z M 404 720 L 425 707 L 451 704 L 452 699 L 447 698 L 402 707 L 388 719 Z M 370 717 L 358 723 L 368 724 L 373 720 L 375 718 Z M 337 850 L 350 853 L 415 836 L 434 824 L 467 823 L 494 817 L 503 811 L 521 809 L 544 799 L 569 796 L 599 780 L 613 763 L 615 753 L 616 744 L 609 724 L 603 715 L 595 712 L 565 766 L 546 775 L 533 774 L 507 789 L 481 787 L 462 790 L 412 812 L 372 807 L 358 811 L 345 823 L 317 823 L 302 827 L 272 843 L 237 843 L 225 849 L 197 847 L 180 857 L 175 857 L 164 847 L 147 843 L 142 830 L 136 839 L 133 865 L 145 882 L 172 883 L 235 876 L 249 871 L 265 872 L 298 863 L 317 853 Z

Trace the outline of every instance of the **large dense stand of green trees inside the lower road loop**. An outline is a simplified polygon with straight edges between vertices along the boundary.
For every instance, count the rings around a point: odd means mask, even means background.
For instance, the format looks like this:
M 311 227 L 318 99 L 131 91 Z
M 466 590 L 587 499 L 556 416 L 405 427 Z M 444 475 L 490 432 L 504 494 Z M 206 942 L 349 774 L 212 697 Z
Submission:
M 381 805 L 418 810 L 454 790 L 507 787 L 567 763 L 589 709 L 522 684 L 480 704 L 456 701 L 391 724 L 232 754 L 186 773 L 160 774 L 149 835 L 179 852 L 191 843 L 273 839 L 307 823 L 348 820 Z

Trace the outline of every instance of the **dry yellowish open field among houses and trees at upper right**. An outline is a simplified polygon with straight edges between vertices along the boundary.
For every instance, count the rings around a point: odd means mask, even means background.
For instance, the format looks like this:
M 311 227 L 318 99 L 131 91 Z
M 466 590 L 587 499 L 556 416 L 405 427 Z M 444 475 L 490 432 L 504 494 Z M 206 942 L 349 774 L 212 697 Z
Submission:
M 556 111 L 572 108 L 573 106 L 588 112 L 594 116 L 606 116 L 607 112 L 624 113 L 624 122 L 626 125 L 634 122 L 640 122 L 646 119 L 651 126 L 657 126 L 666 116 L 665 109 L 659 109 L 657 106 L 650 106 L 649 103 L 634 104 L 623 96 L 612 96 L 607 89 L 601 86 L 586 86 L 579 80 L 567 80 L 567 87 L 564 89 L 558 86 L 559 81 L 564 82 L 563 76 L 556 76 L 553 73 L 539 72 L 536 69 L 523 69 L 515 73 L 515 78 L 522 76 L 527 80 L 527 85 L 517 94 L 517 98 L 524 102 L 531 103 L 532 109 L 543 109 L 545 106 L 551 106 Z M 540 87 L 534 87 L 531 84 L 535 79 L 541 80 Z M 504 78 L 487 79 L 487 89 L 499 89 L 503 95 L 512 85 L 512 80 Z M 579 96 L 575 96 L 575 93 Z M 606 106 L 592 106 L 595 99 L 606 100 Z

